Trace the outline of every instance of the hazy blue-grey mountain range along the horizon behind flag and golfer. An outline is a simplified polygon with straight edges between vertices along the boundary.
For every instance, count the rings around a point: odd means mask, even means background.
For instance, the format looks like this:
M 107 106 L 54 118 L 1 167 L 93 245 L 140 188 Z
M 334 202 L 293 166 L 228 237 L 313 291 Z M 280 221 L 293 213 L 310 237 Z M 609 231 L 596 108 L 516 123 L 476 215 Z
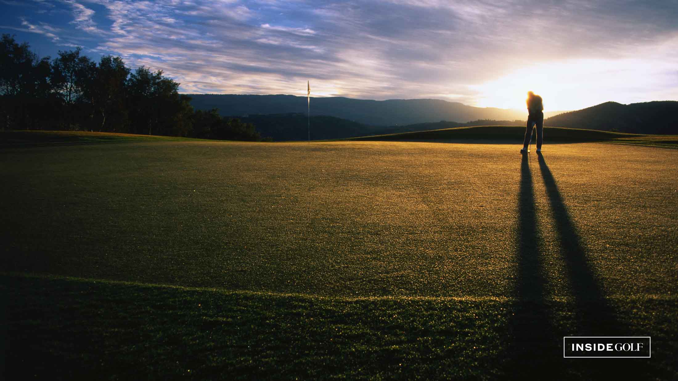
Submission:
M 477 108 L 439 99 L 374 101 L 311 98 L 310 132 L 306 97 L 294 95 L 190 95 L 197 110 L 217 108 L 222 116 L 252 123 L 276 141 L 339 139 L 477 125 L 524 125 L 525 112 Z M 545 126 L 624 133 L 678 135 L 678 102 L 605 102 L 582 110 L 544 113 Z

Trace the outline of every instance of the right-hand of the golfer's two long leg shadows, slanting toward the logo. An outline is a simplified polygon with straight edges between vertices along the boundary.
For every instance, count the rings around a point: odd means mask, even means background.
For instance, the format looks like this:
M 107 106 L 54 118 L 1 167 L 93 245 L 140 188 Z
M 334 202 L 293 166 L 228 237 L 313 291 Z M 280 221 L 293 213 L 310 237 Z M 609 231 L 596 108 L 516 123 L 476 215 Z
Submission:
M 546 187 L 546 195 L 553 212 L 553 222 L 561 243 L 567 279 L 574 296 L 576 332 L 562 332 L 569 336 L 633 336 L 631 327 L 624 326 L 616 317 L 603 287 L 586 258 L 586 249 L 572 223 L 563 198 L 546 160 L 538 155 L 539 167 Z M 560 335 L 559 335 L 560 336 Z M 562 340 L 562 337 L 556 339 Z M 562 342 L 562 341 L 561 341 Z M 562 351 L 562 348 L 561 348 Z M 647 379 L 652 373 L 645 359 L 563 359 L 565 367 L 580 376 L 593 379 Z M 604 361 L 601 361 L 604 360 Z M 631 360 L 631 361 L 629 361 Z

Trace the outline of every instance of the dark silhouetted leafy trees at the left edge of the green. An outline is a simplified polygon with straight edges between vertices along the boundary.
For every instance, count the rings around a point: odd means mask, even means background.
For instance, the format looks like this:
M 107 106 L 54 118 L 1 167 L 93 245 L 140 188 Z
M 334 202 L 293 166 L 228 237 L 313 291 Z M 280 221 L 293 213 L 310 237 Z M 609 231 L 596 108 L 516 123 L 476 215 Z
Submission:
M 179 85 L 162 70 L 132 70 L 113 55 L 94 62 L 80 47 L 41 58 L 3 35 L 0 128 L 261 140 L 252 123 L 194 110 Z

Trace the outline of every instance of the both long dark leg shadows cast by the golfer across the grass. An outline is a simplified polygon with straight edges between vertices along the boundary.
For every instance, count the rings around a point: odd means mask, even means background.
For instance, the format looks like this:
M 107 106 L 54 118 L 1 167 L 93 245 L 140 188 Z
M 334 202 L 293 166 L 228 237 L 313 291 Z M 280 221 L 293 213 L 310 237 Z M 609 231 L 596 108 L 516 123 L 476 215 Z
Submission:
M 515 315 L 509 330 L 514 351 L 509 352 L 506 374 L 510 378 L 577 379 L 650 376 L 646 363 L 628 359 L 591 362 L 563 359 L 563 336 L 631 336 L 605 298 L 601 282 L 586 258 L 586 250 L 544 156 L 538 155 L 539 169 L 553 213 L 553 224 L 560 242 L 560 254 L 570 283 L 572 302 L 565 306 L 574 313 L 576 327 L 557 326 L 554 307 L 559 301 L 546 297 L 546 278 L 540 252 L 540 232 L 530 172 L 530 157 L 523 155 L 517 231 L 518 272 Z M 572 311 L 570 311 L 572 310 Z M 622 360 L 622 361 L 614 361 Z

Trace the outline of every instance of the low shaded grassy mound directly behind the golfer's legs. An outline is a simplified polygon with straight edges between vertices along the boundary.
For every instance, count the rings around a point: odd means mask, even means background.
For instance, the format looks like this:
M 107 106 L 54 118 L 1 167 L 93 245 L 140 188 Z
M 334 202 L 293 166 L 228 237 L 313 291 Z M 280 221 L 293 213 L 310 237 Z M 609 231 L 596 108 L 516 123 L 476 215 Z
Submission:
M 505 141 L 506 143 L 520 143 L 525 134 L 522 126 L 475 126 L 456 127 L 452 129 L 437 129 L 431 131 L 416 131 L 408 133 L 394 133 L 387 135 L 374 135 L 356 137 L 349 140 L 367 141 L 444 141 L 454 140 L 464 142 L 468 140 L 478 141 Z M 533 143 L 536 141 L 533 137 Z M 596 131 L 584 129 L 570 129 L 564 127 L 544 127 L 544 144 L 557 143 L 581 143 L 581 142 L 605 142 L 625 143 L 635 145 L 649 145 L 666 148 L 678 148 L 677 135 L 641 135 L 629 133 L 616 133 L 610 131 Z

